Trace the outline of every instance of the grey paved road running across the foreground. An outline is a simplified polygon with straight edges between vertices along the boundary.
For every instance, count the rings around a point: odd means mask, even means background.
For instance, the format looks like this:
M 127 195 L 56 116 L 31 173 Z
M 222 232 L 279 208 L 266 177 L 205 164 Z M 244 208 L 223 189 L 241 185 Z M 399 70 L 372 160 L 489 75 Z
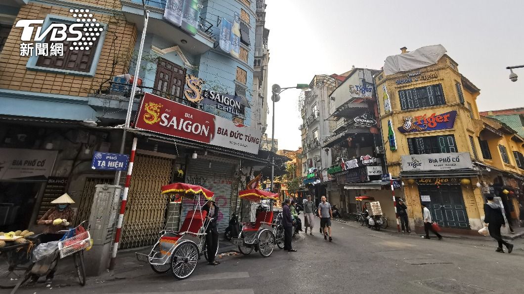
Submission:
M 294 245 L 298 252 L 275 247 L 269 258 L 226 256 L 219 266 L 201 261 L 183 281 L 129 262 L 125 279 L 20 293 L 524 293 L 523 239 L 514 241 L 514 253 L 501 254 L 488 238 L 424 240 L 334 222 L 328 242 L 318 227 L 317 219 L 315 235 Z

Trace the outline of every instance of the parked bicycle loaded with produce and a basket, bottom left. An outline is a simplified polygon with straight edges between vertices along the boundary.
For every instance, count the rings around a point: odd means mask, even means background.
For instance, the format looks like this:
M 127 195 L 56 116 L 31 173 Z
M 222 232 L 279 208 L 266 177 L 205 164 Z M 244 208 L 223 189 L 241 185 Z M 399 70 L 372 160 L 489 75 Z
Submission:
M 77 232 L 82 226 L 83 232 L 64 239 L 68 236 L 71 230 L 59 231 L 59 233 L 42 233 L 35 236 L 27 237 L 29 242 L 15 244 L 0 248 L 0 288 L 13 289 L 11 294 L 23 285 L 29 278 L 38 279 L 42 276 L 47 276 L 54 273 L 58 266 L 58 261 L 69 255 L 73 255 L 73 262 L 78 274 L 79 284 L 85 285 L 85 265 L 83 251 L 91 245 L 89 232 L 85 230 L 81 222 L 77 227 L 71 229 Z M 62 240 L 63 239 L 63 240 Z M 61 241 L 60 241 L 61 240 Z M 32 252 L 36 246 L 43 243 L 58 241 L 56 251 L 50 254 L 47 270 L 34 273 L 32 270 L 35 262 L 31 261 Z

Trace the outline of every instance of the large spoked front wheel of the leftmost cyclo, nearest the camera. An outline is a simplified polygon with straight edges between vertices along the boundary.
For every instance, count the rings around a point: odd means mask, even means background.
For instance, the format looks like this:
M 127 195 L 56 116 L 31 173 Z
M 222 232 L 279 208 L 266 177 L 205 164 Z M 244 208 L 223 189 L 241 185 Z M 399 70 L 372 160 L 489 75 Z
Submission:
M 171 255 L 173 276 L 179 280 L 191 276 L 198 263 L 198 255 L 198 247 L 193 242 L 185 241 L 178 245 Z

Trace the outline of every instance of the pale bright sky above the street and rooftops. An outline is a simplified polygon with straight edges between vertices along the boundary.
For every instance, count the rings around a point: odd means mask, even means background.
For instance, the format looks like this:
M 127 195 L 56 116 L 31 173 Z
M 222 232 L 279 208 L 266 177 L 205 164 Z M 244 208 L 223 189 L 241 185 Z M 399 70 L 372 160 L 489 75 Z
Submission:
M 480 111 L 524 107 L 524 68 L 508 78 L 506 66 L 524 64 L 524 1 L 266 0 L 268 137 L 271 85 L 309 84 L 315 74 L 356 67 L 380 69 L 389 55 L 442 44 L 459 71 L 481 89 Z M 301 145 L 299 90 L 275 106 L 279 149 Z

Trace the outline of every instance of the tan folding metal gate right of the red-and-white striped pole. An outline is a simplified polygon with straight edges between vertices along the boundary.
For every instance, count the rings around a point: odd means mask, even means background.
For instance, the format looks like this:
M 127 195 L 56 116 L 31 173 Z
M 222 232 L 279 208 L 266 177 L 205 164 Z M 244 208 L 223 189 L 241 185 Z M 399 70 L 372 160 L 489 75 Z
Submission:
M 158 240 L 167 208 L 160 188 L 169 184 L 172 172 L 173 159 L 136 154 L 119 248 L 152 245 Z

